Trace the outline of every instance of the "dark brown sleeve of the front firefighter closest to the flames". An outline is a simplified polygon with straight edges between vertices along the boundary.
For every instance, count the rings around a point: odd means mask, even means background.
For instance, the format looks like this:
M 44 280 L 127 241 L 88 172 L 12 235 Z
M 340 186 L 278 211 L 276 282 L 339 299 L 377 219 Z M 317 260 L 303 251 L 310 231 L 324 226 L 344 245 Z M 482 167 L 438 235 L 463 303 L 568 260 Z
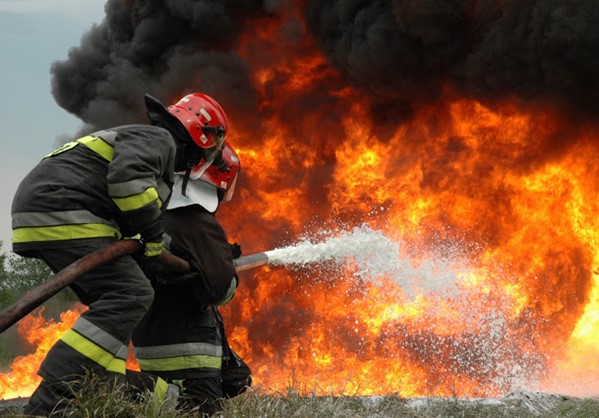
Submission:
M 169 210 L 164 224 L 173 254 L 189 261 L 185 277 L 194 299 L 204 305 L 223 305 L 233 297 L 238 278 L 227 236 L 213 214 L 193 205 Z M 174 283 L 178 277 L 170 278 Z

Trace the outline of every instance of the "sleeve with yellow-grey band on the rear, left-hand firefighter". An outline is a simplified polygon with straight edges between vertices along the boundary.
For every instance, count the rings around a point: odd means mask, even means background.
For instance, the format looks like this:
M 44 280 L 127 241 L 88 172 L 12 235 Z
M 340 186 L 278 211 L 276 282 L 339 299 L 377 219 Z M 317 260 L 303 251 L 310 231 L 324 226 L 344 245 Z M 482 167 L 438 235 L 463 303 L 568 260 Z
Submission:
M 107 183 L 125 233 L 162 236 L 161 208 L 170 194 L 174 164 L 175 142 L 167 130 L 132 125 L 118 132 Z

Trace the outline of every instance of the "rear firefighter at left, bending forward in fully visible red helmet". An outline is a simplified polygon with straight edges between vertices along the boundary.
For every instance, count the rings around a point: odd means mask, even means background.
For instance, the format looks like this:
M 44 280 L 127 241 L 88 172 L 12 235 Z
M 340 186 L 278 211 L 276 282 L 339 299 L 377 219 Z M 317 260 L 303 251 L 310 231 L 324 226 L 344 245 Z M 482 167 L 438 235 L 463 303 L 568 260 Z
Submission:
M 145 105 L 150 124 L 69 142 L 27 174 L 12 203 L 15 253 L 40 258 L 56 272 L 124 237 L 139 235 L 148 259 L 162 252 L 162 214 L 174 172 L 212 161 L 227 119 L 214 99 L 199 93 L 168 109 L 146 95 Z M 70 287 L 89 309 L 49 350 L 27 414 L 63 409 L 73 396 L 70 383 L 85 373 L 124 382 L 133 329 L 154 298 L 131 256 L 93 269 Z

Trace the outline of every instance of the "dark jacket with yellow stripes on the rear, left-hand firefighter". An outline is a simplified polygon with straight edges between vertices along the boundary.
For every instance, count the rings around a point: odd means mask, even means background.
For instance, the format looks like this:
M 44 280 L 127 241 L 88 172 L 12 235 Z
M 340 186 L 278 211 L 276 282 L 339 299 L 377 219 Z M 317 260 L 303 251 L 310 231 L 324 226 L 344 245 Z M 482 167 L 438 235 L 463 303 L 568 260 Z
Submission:
M 166 129 L 126 125 L 95 132 L 47 155 L 12 204 L 13 250 L 34 255 L 140 233 L 162 236 L 176 145 Z

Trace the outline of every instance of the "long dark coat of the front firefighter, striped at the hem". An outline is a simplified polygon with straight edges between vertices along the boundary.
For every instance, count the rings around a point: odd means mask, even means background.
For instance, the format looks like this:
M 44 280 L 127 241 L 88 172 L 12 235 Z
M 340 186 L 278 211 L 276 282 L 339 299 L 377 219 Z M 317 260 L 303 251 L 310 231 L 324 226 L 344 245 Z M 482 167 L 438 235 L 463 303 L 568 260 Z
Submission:
M 209 307 L 228 302 L 237 288 L 231 246 L 214 215 L 199 205 L 167 210 L 164 227 L 170 251 L 194 271 L 147 273 L 154 303 L 133 334 L 135 355 L 141 370 L 167 379 L 218 374 L 225 336 Z

